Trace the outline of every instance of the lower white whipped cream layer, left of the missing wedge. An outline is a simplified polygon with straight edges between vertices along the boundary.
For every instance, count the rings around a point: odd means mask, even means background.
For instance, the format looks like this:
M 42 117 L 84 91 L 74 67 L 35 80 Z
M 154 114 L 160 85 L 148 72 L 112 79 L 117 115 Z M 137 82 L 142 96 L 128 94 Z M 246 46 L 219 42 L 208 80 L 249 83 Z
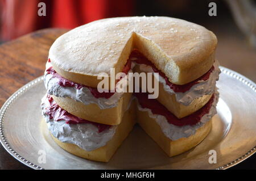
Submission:
M 51 134 L 61 142 L 75 144 L 81 149 L 92 151 L 105 146 L 115 134 L 117 126 L 98 132 L 96 125 L 90 123 L 67 124 L 64 120 L 55 121 L 54 117 L 50 119 L 46 113 L 46 108 L 49 106 L 47 97 L 44 96 L 41 104 L 42 114 Z

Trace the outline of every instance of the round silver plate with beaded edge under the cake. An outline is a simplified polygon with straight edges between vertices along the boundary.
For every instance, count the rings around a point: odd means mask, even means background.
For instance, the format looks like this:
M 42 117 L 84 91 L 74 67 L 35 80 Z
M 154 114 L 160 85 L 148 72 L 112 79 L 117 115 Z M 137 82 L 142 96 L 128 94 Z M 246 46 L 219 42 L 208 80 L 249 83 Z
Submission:
M 226 169 L 255 153 L 256 86 L 235 71 L 221 70 L 212 131 L 195 148 L 176 157 L 167 157 L 138 126 L 109 163 L 69 154 L 40 125 L 40 99 L 46 94 L 42 77 L 27 83 L 3 104 L 0 141 L 14 158 L 32 169 Z M 209 163 L 209 150 L 216 151 L 217 163 Z M 42 163 L 44 152 L 46 162 Z

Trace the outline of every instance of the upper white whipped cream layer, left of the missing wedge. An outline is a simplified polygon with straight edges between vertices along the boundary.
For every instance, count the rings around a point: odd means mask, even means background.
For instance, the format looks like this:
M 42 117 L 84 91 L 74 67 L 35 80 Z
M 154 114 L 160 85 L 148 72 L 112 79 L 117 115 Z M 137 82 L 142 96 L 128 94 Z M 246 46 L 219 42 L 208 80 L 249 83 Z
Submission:
M 132 65 L 133 67 L 134 65 Z M 51 67 L 51 62 L 47 62 L 46 70 Z M 131 72 L 131 70 L 129 71 Z M 127 77 L 123 77 L 119 82 L 117 82 L 116 87 L 121 87 L 119 85 L 125 85 L 127 81 Z M 117 107 L 119 99 L 123 96 L 123 91 L 117 90 L 114 94 L 106 99 L 106 98 L 96 98 L 93 96 L 92 92 L 88 87 L 82 87 L 81 89 L 77 89 L 76 87 L 67 87 L 61 86 L 59 84 L 59 78 L 54 77 L 52 74 L 47 74 L 44 72 L 44 86 L 47 89 L 47 94 L 55 95 L 57 97 L 69 97 L 78 102 L 88 104 L 97 104 L 101 109 L 108 109 Z M 123 88 L 124 89 L 124 88 Z

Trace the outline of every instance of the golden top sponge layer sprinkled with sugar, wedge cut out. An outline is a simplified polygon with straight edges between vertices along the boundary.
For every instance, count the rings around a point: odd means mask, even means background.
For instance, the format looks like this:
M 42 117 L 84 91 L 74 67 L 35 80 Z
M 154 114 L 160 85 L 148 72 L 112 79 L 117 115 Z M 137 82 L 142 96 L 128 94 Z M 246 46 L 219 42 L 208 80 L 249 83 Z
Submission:
M 206 28 L 168 17 L 97 20 L 60 36 L 49 50 L 53 68 L 63 77 L 97 87 L 97 75 L 123 69 L 139 49 L 170 82 L 183 85 L 206 73 L 214 62 L 216 36 Z

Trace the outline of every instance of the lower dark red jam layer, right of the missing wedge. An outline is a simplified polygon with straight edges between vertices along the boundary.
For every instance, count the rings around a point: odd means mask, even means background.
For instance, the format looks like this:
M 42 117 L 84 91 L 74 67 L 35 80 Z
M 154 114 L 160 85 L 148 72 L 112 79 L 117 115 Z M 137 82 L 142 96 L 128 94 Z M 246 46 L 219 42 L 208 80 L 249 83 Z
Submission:
M 166 117 L 168 123 L 174 124 L 176 126 L 182 127 L 184 125 L 195 125 L 199 123 L 201 117 L 205 114 L 209 113 L 210 108 L 212 107 L 212 103 L 214 101 L 214 94 L 210 98 L 207 104 L 202 107 L 200 110 L 178 119 L 174 114 L 167 110 L 161 103 L 158 102 L 156 99 L 148 99 L 148 94 L 144 92 L 135 92 L 134 95 L 137 97 L 139 104 L 141 104 L 142 108 L 148 108 L 151 110 L 152 113 L 156 115 L 162 115 Z

